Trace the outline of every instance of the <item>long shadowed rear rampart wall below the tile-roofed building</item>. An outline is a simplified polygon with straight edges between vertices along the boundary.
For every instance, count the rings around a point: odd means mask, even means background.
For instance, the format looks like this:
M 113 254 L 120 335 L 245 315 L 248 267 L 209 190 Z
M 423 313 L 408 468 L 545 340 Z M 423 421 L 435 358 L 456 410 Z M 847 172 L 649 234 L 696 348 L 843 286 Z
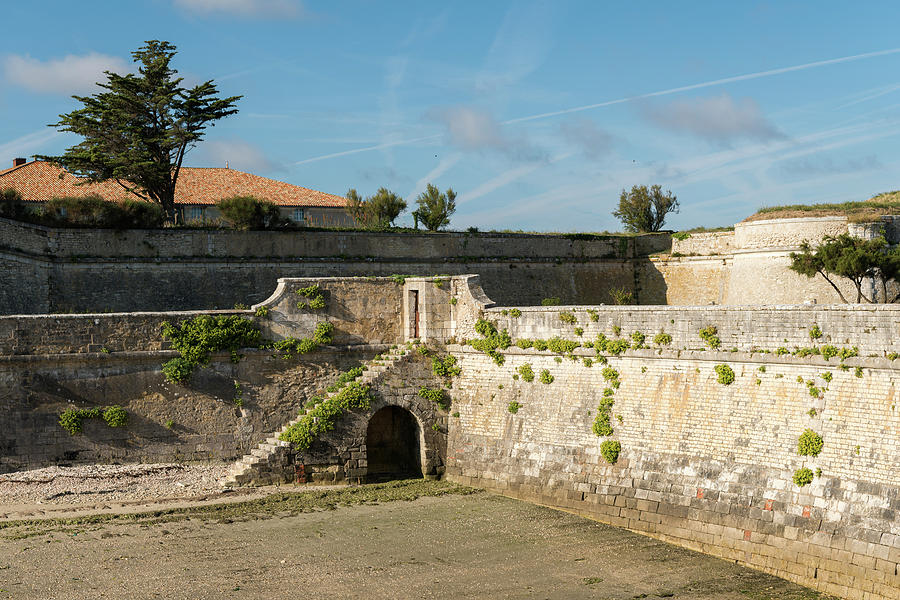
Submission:
M 0 219 L 0 313 L 227 309 L 265 300 L 280 277 L 479 273 L 493 297 L 604 302 L 632 290 L 636 257 L 665 234 L 108 231 Z M 551 291 L 554 294 L 551 294 Z

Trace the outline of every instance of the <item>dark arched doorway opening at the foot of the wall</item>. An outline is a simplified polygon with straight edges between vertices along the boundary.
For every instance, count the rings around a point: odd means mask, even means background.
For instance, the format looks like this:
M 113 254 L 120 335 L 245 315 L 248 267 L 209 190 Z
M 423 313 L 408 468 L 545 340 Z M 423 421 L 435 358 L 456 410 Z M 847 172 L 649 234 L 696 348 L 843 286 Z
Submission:
M 382 408 L 369 420 L 366 431 L 368 481 L 422 476 L 419 424 L 399 406 Z

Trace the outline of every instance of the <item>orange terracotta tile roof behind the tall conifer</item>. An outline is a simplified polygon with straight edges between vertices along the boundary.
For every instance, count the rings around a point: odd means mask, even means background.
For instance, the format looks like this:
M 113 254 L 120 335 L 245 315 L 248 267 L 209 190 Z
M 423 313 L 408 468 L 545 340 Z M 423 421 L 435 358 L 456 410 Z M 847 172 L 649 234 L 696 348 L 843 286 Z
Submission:
M 134 198 L 114 181 L 76 185 L 79 178 L 51 163 L 35 160 L 0 171 L 0 190 L 13 188 L 28 202 L 60 196 L 98 194 L 107 200 Z M 224 168 L 183 167 L 175 184 L 175 204 L 215 204 L 229 196 L 256 196 L 279 206 L 343 208 L 347 199 L 259 175 Z

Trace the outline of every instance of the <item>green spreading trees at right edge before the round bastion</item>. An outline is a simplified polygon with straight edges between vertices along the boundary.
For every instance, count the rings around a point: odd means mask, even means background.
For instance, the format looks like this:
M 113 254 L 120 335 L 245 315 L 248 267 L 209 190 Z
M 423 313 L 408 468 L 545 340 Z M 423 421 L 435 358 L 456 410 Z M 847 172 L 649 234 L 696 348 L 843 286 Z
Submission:
M 866 280 L 878 282 L 882 302 L 888 302 L 888 283 L 900 275 L 900 248 L 889 248 L 883 237 L 873 240 L 842 233 L 825 236 L 822 244 L 813 248 L 809 242 L 800 245 L 800 252 L 791 253 L 791 270 L 815 277 L 821 275 L 834 288 L 842 302 L 848 302 L 835 282 L 837 278 L 849 279 L 856 288 L 856 302 L 876 302 L 876 294 L 870 298 L 863 292 Z M 874 290 L 873 290 L 874 291 Z M 900 300 L 900 294 L 889 302 Z

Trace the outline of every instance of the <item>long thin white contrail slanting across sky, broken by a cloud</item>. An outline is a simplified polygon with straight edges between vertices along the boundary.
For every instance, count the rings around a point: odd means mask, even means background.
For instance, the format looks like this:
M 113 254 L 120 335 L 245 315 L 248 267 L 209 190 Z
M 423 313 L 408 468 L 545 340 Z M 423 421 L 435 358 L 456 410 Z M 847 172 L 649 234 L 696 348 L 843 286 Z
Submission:
M 660 90 L 658 92 L 648 92 L 646 94 L 639 94 L 637 96 L 628 96 L 627 98 L 618 98 L 616 100 L 607 100 L 606 102 L 598 102 L 597 104 L 586 104 L 584 106 L 576 106 L 574 108 L 566 108 L 563 110 L 557 110 L 553 112 L 540 113 L 536 115 L 530 115 L 527 117 L 519 117 L 517 119 L 509 119 L 507 121 L 503 121 L 502 125 L 512 125 L 514 123 L 524 123 L 526 121 L 536 121 L 539 119 L 547 119 L 550 117 L 557 117 L 559 115 L 568 115 L 571 113 L 582 112 L 585 110 L 593 110 L 595 108 L 602 108 L 604 106 L 612 106 L 614 104 L 624 104 L 626 102 L 630 102 L 632 100 L 641 100 L 643 98 L 655 98 L 657 96 L 668 96 L 670 94 L 678 94 L 681 92 L 688 92 L 690 90 L 699 90 L 708 87 L 714 87 L 718 85 L 725 85 L 727 83 L 736 83 L 738 81 L 749 81 L 751 79 L 761 79 L 763 77 L 771 77 L 773 75 L 781 75 L 783 73 L 792 73 L 794 71 L 805 71 L 806 69 L 815 69 L 817 67 L 826 67 L 828 65 L 837 65 L 845 62 L 852 62 L 855 60 L 863 60 L 866 58 L 875 58 L 877 56 L 887 56 L 889 54 L 897 54 L 900 53 L 900 48 L 891 48 L 889 50 L 879 50 L 877 52 L 866 52 L 865 54 L 854 54 L 853 56 L 843 56 L 841 58 L 831 58 L 828 60 L 819 60 L 816 62 L 805 63 L 802 65 L 794 65 L 792 67 L 781 67 L 779 69 L 769 69 L 767 71 L 758 71 L 756 73 L 747 73 L 744 75 L 736 75 L 734 77 L 725 77 L 723 79 L 713 79 L 712 81 L 704 81 L 702 83 L 694 83 L 692 85 L 685 85 L 681 87 L 669 88 L 667 90 Z M 371 150 L 381 150 L 383 148 L 391 148 L 394 146 L 404 146 L 407 144 L 415 144 L 417 142 L 423 142 L 426 140 L 435 140 L 442 137 L 443 134 L 437 135 L 429 135 L 425 137 L 419 137 L 409 140 L 400 140 L 396 142 L 388 142 L 385 144 L 378 144 L 376 146 L 367 146 L 365 148 L 357 148 L 355 150 L 345 150 L 344 152 L 334 152 L 332 154 L 324 154 L 322 156 L 314 156 L 312 158 L 307 158 L 301 161 L 297 161 L 294 165 L 303 165 L 306 163 L 316 162 L 320 160 L 325 160 L 327 158 L 335 158 L 338 156 L 347 156 L 348 154 L 359 154 L 360 152 L 369 152 Z

